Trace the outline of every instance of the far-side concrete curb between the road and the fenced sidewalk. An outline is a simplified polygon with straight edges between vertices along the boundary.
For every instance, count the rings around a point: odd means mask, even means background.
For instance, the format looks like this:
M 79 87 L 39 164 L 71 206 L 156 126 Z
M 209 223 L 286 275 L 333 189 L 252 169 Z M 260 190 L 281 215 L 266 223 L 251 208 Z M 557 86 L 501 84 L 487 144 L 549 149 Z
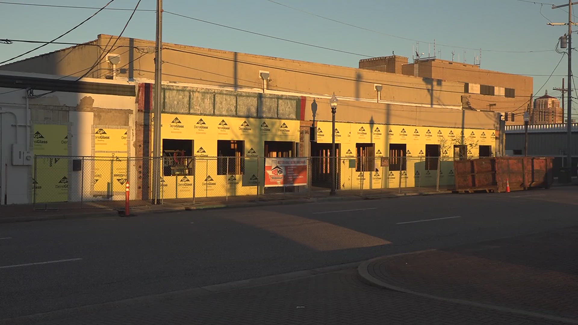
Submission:
M 231 202 L 231 203 L 220 203 L 220 204 L 205 204 L 205 205 L 194 205 L 194 206 L 172 206 L 163 208 L 153 208 L 154 206 L 140 206 L 131 208 L 131 216 L 144 216 L 156 213 L 170 213 L 170 212 L 183 212 L 183 211 L 193 211 L 193 210 L 210 210 L 210 209 L 224 209 L 224 208 L 250 208 L 253 206 L 272 206 L 272 205 L 286 205 L 286 204 L 306 204 L 314 202 L 332 202 L 332 201 L 360 201 L 360 200 L 381 200 L 385 198 L 399 198 L 407 196 L 416 195 L 436 195 L 436 194 L 451 194 L 450 191 L 440 191 L 440 192 L 424 192 L 424 193 L 387 193 L 387 194 L 375 194 L 374 195 L 347 195 L 347 196 L 334 196 L 334 197 L 312 197 L 312 198 L 295 198 L 295 199 L 285 199 L 285 200 L 262 200 L 262 201 L 244 201 L 244 202 Z M 62 210 L 61 213 L 52 213 L 50 215 L 43 216 L 18 216 L 18 217 L 0 217 L 0 224 L 2 223 L 17 223 L 17 222 L 29 222 L 29 221 L 45 221 L 45 220 L 62 220 L 62 219 L 79 219 L 79 218 L 90 218 L 90 217 L 123 217 L 119 213 L 123 209 L 99 209 L 91 212 L 80 212 L 74 214 L 66 214 L 66 210 Z

